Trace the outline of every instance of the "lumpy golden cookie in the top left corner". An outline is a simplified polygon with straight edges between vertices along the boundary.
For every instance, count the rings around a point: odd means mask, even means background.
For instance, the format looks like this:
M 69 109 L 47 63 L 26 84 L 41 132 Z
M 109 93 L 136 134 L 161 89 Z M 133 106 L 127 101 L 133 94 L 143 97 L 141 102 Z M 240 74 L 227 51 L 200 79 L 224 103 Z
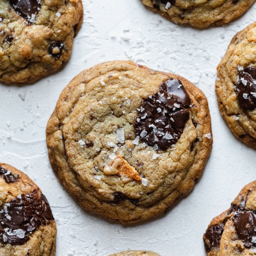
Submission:
M 0 1 L 0 81 L 34 82 L 69 59 L 81 0 Z

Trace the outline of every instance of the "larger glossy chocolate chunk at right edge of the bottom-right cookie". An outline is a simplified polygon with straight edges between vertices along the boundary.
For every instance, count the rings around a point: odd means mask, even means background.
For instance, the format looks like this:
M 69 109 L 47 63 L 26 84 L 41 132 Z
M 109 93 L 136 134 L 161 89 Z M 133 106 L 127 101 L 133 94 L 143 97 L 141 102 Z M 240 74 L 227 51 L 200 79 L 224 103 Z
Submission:
M 237 235 L 243 240 L 244 246 L 256 245 L 256 214 L 252 211 L 234 212 L 234 223 Z

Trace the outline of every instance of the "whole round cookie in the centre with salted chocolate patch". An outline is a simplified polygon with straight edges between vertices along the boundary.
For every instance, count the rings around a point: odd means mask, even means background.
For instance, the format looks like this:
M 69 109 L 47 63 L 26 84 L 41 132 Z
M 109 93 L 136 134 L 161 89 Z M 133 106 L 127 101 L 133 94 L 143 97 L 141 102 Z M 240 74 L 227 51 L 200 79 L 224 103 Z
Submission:
M 46 135 L 52 168 L 81 207 L 123 223 L 161 215 L 188 195 L 212 146 L 204 94 L 132 61 L 76 76 Z

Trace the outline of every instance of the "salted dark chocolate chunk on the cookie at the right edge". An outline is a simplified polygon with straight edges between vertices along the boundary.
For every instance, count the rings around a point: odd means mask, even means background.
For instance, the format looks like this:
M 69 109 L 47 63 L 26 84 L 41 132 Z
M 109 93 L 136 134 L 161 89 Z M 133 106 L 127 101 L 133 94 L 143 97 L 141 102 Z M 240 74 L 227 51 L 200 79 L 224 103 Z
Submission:
M 244 111 L 256 108 L 256 67 L 246 67 L 239 71 L 235 91 Z

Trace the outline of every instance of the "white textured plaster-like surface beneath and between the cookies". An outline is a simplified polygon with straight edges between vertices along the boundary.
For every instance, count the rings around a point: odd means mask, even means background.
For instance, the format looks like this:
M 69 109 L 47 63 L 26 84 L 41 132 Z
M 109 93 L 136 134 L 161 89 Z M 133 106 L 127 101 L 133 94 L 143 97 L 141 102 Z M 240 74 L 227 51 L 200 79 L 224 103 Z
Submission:
M 210 220 L 256 179 L 256 152 L 229 132 L 214 88 L 216 66 L 233 35 L 254 21 L 256 4 L 225 27 L 196 30 L 150 12 L 140 0 L 83 2 L 83 27 L 63 70 L 22 88 L 0 84 L 0 162 L 24 171 L 47 196 L 58 225 L 56 256 L 107 256 L 125 249 L 204 256 L 202 235 Z M 167 215 L 129 227 L 81 210 L 55 178 L 45 143 L 47 120 L 61 90 L 83 69 L 115 59 L 195 83 L 209 100 L 214 135 L 212 154 L 193 192 Z

